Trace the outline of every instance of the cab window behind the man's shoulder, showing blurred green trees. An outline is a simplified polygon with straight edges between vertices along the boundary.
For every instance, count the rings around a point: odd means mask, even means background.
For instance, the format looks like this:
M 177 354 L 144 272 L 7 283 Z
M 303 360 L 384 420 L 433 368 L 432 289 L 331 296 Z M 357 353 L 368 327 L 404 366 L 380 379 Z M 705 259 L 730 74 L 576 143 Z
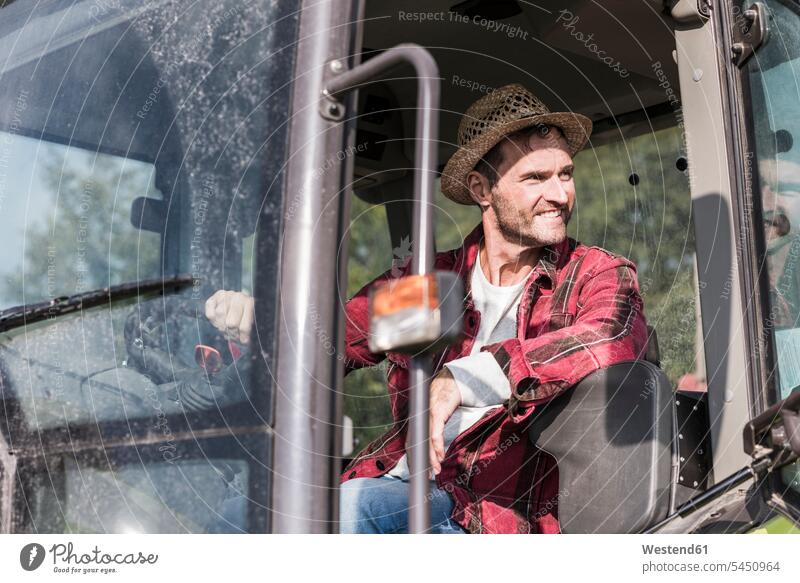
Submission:
M 570 235 L 636 264 L 661 368 L 673 387 L 702 391 L 706 375 L 685 156 L 677 126 L 578 153 Z

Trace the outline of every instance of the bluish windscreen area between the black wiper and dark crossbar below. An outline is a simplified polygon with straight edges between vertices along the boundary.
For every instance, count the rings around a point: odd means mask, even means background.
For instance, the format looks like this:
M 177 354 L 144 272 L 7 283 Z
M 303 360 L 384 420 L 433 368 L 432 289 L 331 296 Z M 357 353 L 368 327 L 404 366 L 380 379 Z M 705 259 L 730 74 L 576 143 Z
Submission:
M 195 361 L 198 345 L 219 351 L 218 370 Z M 0 397 L 31 433 L 139 418 L 155 427 L 246 402 L 249 354 L 237 356 L 185 295 L 131 300 L 6 334 Z

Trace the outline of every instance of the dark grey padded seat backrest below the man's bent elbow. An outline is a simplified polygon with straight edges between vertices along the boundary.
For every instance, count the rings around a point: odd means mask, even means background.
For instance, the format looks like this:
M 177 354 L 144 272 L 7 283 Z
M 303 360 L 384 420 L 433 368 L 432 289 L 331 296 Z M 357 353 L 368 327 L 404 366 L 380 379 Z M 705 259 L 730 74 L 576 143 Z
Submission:
M 640 532 L 667 515 L 671 392 L 660 368 L 637 360 L 538 407 L 529 434 L 558 462 L 562 532 Z

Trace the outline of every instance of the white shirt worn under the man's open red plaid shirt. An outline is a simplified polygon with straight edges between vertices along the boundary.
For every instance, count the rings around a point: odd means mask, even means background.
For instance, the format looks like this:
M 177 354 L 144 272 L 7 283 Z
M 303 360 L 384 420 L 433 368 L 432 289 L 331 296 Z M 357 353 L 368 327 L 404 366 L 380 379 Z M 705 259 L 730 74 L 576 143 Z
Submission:
M 527 278 L 514 285 L 492 285 L 481 269 L 481 254 L 472 269 L 470 285 L 475 309 L 481 314 L 475 344 L 469 356 L 446 363 L 461 391 L 461 406 L 444 426 L 445 451 L 453 440 L 476 423 L 489 409 L 502 404 L 511 395 L 511 385 L 503 369 L 481 347 L 513 338 L 517 333 L 517 309 Z M 426 448 L 427 451 L 427 448 Z M 404 455 L 389 475 L 407 480 L 408 458 Z

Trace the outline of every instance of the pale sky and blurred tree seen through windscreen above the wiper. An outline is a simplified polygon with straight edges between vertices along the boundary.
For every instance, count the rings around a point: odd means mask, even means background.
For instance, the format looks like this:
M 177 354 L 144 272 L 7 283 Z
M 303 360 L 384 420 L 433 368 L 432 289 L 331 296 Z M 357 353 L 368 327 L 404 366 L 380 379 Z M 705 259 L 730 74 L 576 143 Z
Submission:
M 160 200 L 154 166 L 0 132 L 13 196 L 0 215 L 0 310 L 160 274 L 157 233 L 131 224 Z

